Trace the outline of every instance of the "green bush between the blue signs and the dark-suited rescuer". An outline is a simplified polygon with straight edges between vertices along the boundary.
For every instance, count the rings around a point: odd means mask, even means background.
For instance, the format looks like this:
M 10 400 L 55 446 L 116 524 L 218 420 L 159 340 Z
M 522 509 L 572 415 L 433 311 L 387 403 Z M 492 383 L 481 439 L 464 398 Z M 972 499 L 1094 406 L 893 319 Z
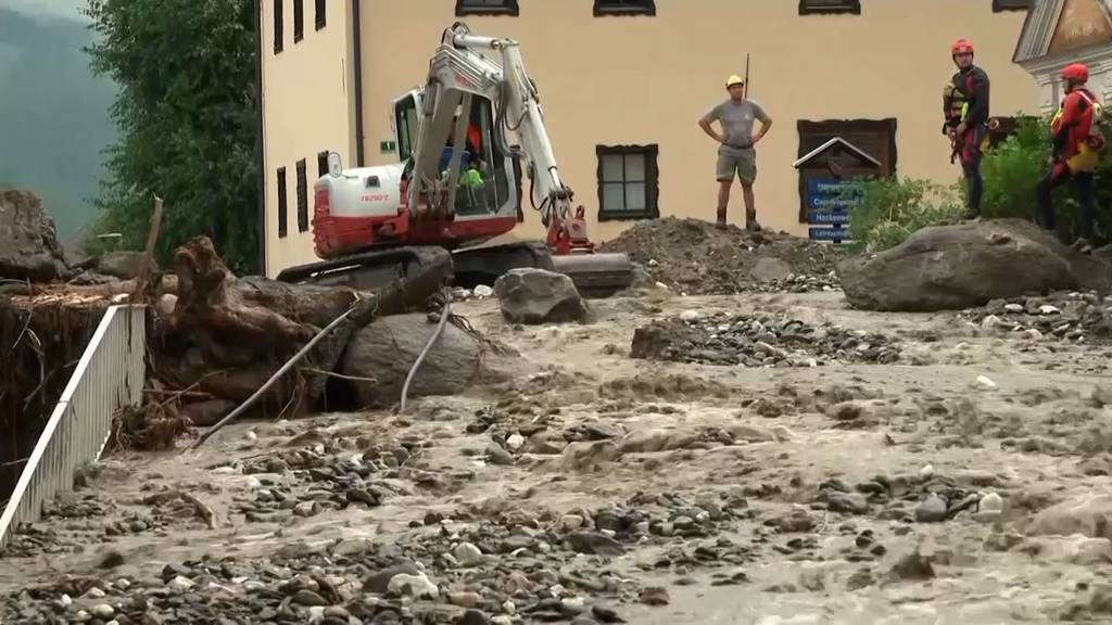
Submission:
M 853 182 L 847 192 L 860 194 L 850 211 L 851 246 L 876 252 L 897 246 L 909 235 L 950 222 L 964 212 L 953 187 L 920 179 L 867 178 Z

